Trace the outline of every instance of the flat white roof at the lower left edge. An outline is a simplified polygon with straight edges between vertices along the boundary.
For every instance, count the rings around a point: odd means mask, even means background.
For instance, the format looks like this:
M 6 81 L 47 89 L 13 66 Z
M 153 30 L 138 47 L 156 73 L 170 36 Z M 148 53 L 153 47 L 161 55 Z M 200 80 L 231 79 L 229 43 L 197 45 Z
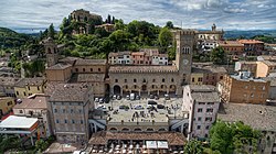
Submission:
M 0 128 L 30 129 L 39 120 L 36 118 L 9 116 L 0 123 Z

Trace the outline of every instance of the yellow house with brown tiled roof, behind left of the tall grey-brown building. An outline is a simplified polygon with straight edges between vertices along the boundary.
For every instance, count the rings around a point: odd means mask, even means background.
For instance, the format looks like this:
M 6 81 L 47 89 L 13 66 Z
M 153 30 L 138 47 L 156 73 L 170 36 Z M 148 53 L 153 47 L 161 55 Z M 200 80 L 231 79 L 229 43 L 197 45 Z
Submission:
M 43 94 L 44 86 L 44 78 L 22 78 L 15 82 L 15 96 L 17 98 L 26 98 L 33 94 Z

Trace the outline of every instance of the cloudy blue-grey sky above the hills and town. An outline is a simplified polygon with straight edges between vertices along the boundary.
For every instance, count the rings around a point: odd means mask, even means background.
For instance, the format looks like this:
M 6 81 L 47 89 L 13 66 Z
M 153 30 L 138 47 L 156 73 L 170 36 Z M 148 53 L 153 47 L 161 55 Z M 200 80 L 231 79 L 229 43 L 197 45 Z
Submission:
M 167 21 L 184 29 L 275 30 L 276 0 L 0 0 L 0 26 L 18 31 L 55 29 L 73 10 L 85 9 L 125 23 Z

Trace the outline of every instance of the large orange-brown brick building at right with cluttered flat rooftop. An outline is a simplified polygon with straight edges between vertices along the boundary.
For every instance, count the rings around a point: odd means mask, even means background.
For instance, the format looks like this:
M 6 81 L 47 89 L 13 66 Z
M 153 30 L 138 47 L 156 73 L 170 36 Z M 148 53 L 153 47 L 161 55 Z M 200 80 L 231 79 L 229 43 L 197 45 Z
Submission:
M 266 103 L 270 81 L 252 78 L 248 72 L 238 75 L 225 75 L 217 85 L 224 102 L 233 103 Z

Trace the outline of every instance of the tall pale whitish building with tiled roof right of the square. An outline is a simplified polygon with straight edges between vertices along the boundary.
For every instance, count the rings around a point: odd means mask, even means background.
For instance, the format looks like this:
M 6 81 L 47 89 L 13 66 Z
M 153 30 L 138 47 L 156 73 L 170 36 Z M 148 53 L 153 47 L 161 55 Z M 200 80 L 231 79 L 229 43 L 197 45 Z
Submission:
M 209 136 L 219 107 L 220 98 L 214 86 L 189 85 L 183 88 L 182 110 L 189 110 L 188 140 Z

